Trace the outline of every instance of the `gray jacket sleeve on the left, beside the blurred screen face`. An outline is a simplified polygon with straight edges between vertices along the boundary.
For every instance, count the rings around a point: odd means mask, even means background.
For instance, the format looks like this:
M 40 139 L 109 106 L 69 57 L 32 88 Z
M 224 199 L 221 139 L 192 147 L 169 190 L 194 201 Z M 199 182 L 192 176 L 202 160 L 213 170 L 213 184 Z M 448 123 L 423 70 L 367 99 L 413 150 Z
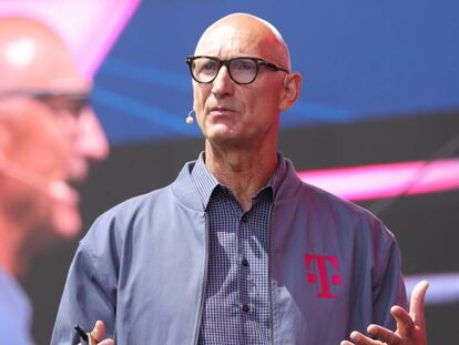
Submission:
M 74 325 L 89 332 L 98 319 L 105 323 L 105 337 L 114 336 L 118 265 L 108 232 L 96 229 L 108 225 L 103 223 L 99 220 L 99 226 L 95 224 L 79 244 L 59 306 L 52 345 L 78 344 Z

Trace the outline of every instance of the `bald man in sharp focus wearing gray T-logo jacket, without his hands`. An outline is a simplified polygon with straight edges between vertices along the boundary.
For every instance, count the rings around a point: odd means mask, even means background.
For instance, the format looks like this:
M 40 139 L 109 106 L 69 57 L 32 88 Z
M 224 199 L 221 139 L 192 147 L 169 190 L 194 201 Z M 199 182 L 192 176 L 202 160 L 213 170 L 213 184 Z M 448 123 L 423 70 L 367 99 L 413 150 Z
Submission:
M 118 344 L 327 345 L 369 323 L 394 329 L 389 308 L 406 293 L 392 234 L 276 152 L 302 87 L 279 32 L 231 14 L 187 63 L 205 152 L 95 221 L 51 343 L 96 319 Z

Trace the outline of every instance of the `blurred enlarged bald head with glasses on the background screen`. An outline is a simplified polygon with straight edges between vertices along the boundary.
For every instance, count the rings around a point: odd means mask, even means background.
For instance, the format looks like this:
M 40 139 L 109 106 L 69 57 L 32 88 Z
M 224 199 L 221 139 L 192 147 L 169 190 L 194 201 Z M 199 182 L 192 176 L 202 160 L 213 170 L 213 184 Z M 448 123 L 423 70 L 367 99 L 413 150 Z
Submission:
M 86 179 L 90 161 L 108 155 L 108 142 L 92 110 L 76 106 L 90 80 L 52 33 L 30 28 L 13 35 L 23 24 L 12 23 L 0 40 L 1 105 L 13 143 L 4 150 L 2 175 L 9 199 L 20 201 L 17 210 L 28 211 L 21 217 L 24 229 L 71 237 L 81 227 L 73 185 Z

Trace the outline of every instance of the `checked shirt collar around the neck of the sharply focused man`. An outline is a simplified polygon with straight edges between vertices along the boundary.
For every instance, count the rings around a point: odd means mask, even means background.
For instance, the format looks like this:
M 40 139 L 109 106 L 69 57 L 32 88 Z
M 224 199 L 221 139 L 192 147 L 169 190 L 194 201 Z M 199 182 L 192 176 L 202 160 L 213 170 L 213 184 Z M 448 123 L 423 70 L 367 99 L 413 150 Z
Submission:
M 191 176 L 192 176 L 193 183 L 195 184 L 197 189 L 197 192 L 200 194 L 204 209 L 206 209 L 215 187 L 217 186 L 226 187 L 226 186 L 220 183 L 218 180 L 212 174 L 212 172 L 205 165 L 204 159 L 205 159 L 205 152 L 203 151 L 197 158 L 196 164 L 194 164 L 194 168 L 191 172 Z M 277 152 L 276 170 L 271 176 L 268 183 L 261 191 L 264 191 L 266 189 L 272 189 L 273 195 L 275 197 L 277 191 L 279 190 L 282 182 L 284 181 L 286 173 L 287 173 L 287 163 L 284 156 L 282 155 L 282 153 Z

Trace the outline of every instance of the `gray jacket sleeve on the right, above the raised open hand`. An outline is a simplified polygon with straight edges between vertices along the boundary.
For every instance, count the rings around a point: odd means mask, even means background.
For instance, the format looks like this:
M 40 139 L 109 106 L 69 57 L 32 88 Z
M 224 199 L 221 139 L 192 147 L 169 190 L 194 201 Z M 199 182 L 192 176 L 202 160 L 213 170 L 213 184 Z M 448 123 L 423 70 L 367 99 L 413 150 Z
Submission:
M 390 308 L 392 305 L 406 308 L 407 295 L 399 247 L 394 235 L 385 227 L 384 232 L 389 239 L 379 239 L 379 245 L 384 243 L 384 251 L 377 253 L 373 268 L 373 322 L 395 331 L 396 322 Z

